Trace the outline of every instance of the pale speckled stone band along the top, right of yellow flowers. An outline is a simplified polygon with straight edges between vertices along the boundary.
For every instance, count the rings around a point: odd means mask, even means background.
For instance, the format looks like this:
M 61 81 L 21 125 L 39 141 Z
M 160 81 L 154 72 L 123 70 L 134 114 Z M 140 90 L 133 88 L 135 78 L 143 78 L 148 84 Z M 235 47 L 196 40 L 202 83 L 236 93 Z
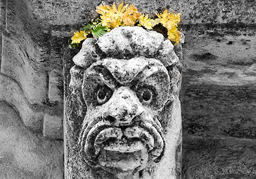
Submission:
M 255 2 L 254 1 L 214 1 L 214 0 L 189 0 L 189 1 L 146 1 L 127 0 L 144 13 L 159 12 L 164 9 L 182 13 L 184 24 L 199 23 L 236 23 L 255 24 Z M 239 8 L 238 8 L 239 7 Z

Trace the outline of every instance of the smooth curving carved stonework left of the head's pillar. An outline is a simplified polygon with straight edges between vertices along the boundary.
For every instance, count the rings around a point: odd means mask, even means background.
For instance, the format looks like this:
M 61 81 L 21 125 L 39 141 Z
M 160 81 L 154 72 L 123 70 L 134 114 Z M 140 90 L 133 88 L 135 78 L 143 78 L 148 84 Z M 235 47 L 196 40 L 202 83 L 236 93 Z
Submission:
M 59 38 L 26 1 L 0 7 L 0 178 L 61 179 L 63 40 L 56 48 Z

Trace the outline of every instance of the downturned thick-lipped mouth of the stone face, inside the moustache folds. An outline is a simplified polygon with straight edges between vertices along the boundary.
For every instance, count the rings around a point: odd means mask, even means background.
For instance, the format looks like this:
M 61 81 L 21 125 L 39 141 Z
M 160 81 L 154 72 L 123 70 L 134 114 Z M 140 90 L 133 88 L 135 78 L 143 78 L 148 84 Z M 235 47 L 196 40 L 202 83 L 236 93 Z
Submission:
M 95 139 L 99 164 L 109 170 L 133 171 L 146 165 L 147 150 L 154 147 L 154 138 L 140 127 L 106 128 Z M 119 172 L 120 172 L 119 171 Z

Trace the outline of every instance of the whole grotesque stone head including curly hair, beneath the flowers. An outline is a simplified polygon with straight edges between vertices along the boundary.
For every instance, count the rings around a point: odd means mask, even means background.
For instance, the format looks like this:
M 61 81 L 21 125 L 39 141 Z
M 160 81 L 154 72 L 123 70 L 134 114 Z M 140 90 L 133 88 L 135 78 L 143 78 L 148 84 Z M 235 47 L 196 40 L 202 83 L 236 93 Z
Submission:
M 95 178 L 176 178 L 181 63 L 173 48 L 155 31 L 120 27 L 86 39 L 74 57 L 81 168 Z

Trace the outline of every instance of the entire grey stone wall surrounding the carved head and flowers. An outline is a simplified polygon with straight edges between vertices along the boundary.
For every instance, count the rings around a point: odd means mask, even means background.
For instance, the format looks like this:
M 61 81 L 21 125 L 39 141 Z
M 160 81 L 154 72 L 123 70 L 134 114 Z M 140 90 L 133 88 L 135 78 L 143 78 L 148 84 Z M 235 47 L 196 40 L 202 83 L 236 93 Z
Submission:
M 100 2 L 1 1 L 0 101 L 5 101 L 0 105 L 5 112 L 0 117 L 4 136 L 1 152 L 6 156 L 1 162 L 1 169 L 5 168 L 1 178 L 44 178 L 46 173 L 42 171 L 51 167 L 41 166 L 52 163 L 50 158 L 61 161 L 61 141 L 43 136 L 61 139 L 62 60 L 71 61 L 77 53 L 68 49 L 67 40 L 72 30 L 96 16 L 94 9 Z M 255 1 L 125 3 L 146 13 L 165 8 L 182 13 L 186 37 L 181 91 L 184 178 L 255 178 Z M 6 116 L 12 122 L 3 122 Z M 16 137 L 13 130 L 20 127 L 13 122 L 23 126 Z M 37 141 L 34 145 L 40 146 L 38 150 L 30 146 L 23 151 L 35 151 L 39 156 L 48 155 L 48 150 L 56 153 L 18 163 L 25 156 L 11 149 L 19 147 L 15 139 L 20 136 L 27 136 L 23 139 L 29 143 L 33 138 Z M 4 150 L 5 145 L 8 148 Z M 31 163 L 32 159 L 37 162 Z M 19 168 L 15 171 L 20 175 L 10 174 L 14 168 Z M 60 164 L 52 168 L 61 173 Z

